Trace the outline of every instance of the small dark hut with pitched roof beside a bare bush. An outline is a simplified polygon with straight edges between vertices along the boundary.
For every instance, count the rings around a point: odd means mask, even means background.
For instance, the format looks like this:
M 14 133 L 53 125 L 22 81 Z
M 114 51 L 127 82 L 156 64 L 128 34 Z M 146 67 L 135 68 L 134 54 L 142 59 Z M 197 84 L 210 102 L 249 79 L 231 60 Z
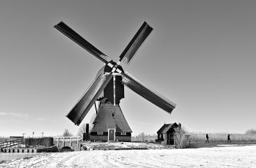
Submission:
M 174 144 L 173 134 L 175 128 L 181 127 L 177 123 L 164 123 L 164 125 L 157 131 L 157 140 L 161 141 L 164 144 Z

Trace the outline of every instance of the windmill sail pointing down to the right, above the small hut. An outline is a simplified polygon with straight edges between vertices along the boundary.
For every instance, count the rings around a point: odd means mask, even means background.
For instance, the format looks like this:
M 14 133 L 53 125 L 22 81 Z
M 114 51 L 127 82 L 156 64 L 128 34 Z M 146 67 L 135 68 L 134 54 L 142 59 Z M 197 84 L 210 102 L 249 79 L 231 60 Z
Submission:
M 132 76 L 132 74 L 125 72 L 122 73 L 122 75 L 122 83 L 124 83 L 126 87 L 130 88 L 132 91 L 141 95 L 142 97 L 152 102 L 159 108 L 163 109 L 167 113 L 172 113 L 172 110 L 176 106 L 174 102 L 159 94 L 156 90 L 148 87 L 148 85 Z

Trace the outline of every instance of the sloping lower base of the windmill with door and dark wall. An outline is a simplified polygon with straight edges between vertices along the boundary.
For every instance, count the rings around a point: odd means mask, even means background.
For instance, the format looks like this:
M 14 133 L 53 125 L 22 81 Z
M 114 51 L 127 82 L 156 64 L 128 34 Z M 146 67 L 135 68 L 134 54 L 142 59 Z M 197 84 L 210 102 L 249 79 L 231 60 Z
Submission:
M 131 141 L 131 128 L 119 106 L 104 98 L 100 101 L 97 116 L 90 132 L 91 141 Z

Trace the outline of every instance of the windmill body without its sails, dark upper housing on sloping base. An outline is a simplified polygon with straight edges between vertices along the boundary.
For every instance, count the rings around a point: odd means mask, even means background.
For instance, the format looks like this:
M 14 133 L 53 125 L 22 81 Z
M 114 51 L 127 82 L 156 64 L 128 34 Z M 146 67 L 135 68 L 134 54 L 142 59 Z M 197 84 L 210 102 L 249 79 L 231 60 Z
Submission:
M 111 64 L 115 65 L 116 62 L 111 61 Z M 118 69 L 124 72 L 121 66 Z M 102 67 L 96 78 L 102 71 L 104 75 L 108 75 L 111 67 Z M 121 81 L 122 76 L 114 72 L 113 78 L 97 99 L 100 103 L 90 132 L 91 141 L 131 141 L 132 130 L 120 108 L 120 99 L 124 98 L 124 84 Z

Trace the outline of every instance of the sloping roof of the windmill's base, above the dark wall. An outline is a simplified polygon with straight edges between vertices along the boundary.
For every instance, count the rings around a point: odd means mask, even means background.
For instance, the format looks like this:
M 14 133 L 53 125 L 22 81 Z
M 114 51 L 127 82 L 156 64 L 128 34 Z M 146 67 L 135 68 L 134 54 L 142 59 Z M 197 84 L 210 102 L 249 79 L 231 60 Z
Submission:
M 117 132 L 132 132 L 119 105 L 113 106 L 110 102 L 100 105 L 94 120 L 92 132 L 108 132 L 108 129 L 116 129 Z

